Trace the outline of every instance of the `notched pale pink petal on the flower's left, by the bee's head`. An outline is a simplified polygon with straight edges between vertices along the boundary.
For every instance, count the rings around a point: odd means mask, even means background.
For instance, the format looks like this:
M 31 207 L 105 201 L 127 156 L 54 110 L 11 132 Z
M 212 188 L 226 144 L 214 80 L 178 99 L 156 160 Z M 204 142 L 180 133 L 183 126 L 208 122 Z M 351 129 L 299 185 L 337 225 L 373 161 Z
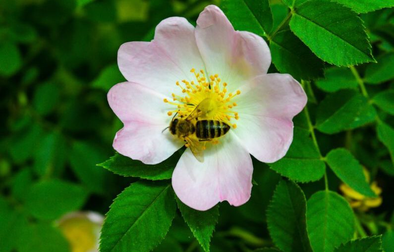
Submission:
M 145 164 L 158 164 L 171 156 L 183 143 L 176 141 L 169 130 L 166 96 L 136 83 L 120 83 L 108 92 L 113 112 L 124 123 L 113 140 L 120 154 Z

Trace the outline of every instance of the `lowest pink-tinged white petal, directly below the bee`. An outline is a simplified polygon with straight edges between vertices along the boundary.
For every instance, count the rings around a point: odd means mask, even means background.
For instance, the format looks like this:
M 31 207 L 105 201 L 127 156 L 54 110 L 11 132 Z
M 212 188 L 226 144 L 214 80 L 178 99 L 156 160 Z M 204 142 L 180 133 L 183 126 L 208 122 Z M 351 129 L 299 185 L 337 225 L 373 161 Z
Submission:
M 176 196 L 196 210 L 208 210 L 218 202 L 240 206 L 250 198 L 252 159 L 228 133 L 221 143 L 208 148 L 204 163 L 186 149 L 172 173 Z

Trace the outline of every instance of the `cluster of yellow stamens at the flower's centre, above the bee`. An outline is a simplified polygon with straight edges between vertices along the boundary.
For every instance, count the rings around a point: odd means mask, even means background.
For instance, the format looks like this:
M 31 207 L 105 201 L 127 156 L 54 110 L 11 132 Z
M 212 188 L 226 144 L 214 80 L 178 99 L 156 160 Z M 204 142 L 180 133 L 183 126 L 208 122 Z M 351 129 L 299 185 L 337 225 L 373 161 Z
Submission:
M 211 75 L 208 80 L 204 70 L 196 72 L 192 68 L 190 72 L 194 74 L 197 83 L 186 80 L 182 80 L 182 84 L 176 82 L 176 85 L 181 88 L 184 95 L 172 93 L 172 101 L 164 99 L 164 102 L 176 106 L 175 110 L 169 111 L 167 114 L 171 116 L 173 113 L 177 113 L 178 117 L 186 118 L 198 106 L 202 110 L 202 119 L 222 121 L 236 128 L 237 125 L 232 123 L 231 120 L 239 119 L 238 113 L 234 111 L 234 107 L 237 104 L 231 100 L 239 95 L 241 91 L 237 90 L 235 93 L 227 93 L 227 83 L 222 83 L 217 74 Z

